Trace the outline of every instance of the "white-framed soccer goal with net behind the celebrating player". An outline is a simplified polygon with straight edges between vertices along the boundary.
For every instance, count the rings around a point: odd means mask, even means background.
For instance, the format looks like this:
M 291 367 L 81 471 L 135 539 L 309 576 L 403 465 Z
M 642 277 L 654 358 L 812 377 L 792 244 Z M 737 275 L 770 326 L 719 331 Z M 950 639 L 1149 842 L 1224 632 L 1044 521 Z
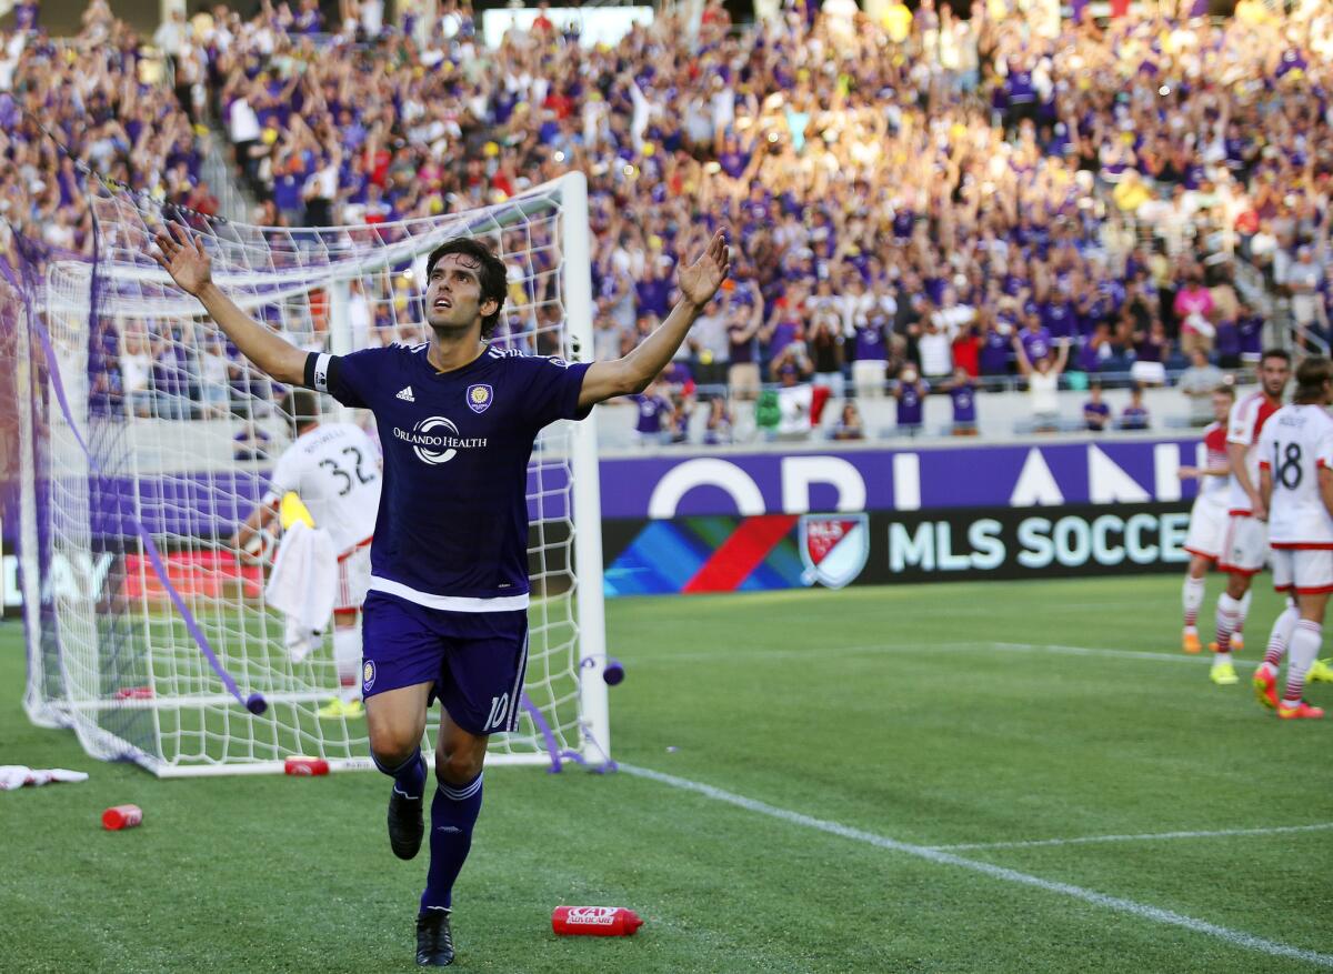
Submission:
M 424 341 L 425 258 L 475 236 L 509 268 L 495 341 L 577 361 L 593 346 L 584 177 L 456 215 L 299 231 L 164 213 L 124 189 L 100 189 L 93 209 L 95 260 L 29 246 L 7 274 L 25 390 L 27 712 L 163 777 L 277 771 L 292 755 L 368 767 L 365 721 L 316 713 L 337 692 L 331 640 L 293 661 L 264 601 L 272 546 L 231 541 L 291 442 L 285 390 L 171 284 L 152 237 L 188 224 L 240 306 L 345 353 Z M 323 408 L 375 436 L 368 413 Z M 491 762 L 611 761 L 595 424 L 549 426 L 529 462 L 528 678 L 521 726 Z

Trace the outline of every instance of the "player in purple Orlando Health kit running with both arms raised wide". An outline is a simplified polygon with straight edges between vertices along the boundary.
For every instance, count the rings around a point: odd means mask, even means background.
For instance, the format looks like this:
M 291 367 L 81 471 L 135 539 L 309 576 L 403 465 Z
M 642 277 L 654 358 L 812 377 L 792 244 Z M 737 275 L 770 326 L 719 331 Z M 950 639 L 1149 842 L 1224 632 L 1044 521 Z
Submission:
M 492 733 L 513 730 L 528 658 L 527 470 L 539 430 L 648 388 L 726 277 L 722 231 L 681 266 L 681 298 L 633 352 L 613 361 L 527 357 L 489 344 L 505 266 L 484 244 L 449 240 L 427 264 L 431 341 L 308 353 L 251 320 L 212 281 L 203 240 L 172 225 L 157 262 L 204 305 L 240 352 L 285 385 L 371 409 L 384 485 L 371 548 L 361 668 L 371 755 L 393 778 L 389 845 L 421 846 L 421 735 L 443 705 L 431 802 L 431 865 L 417 913 L 417 963 L 453 962 L 453 882 L 481 809 Z

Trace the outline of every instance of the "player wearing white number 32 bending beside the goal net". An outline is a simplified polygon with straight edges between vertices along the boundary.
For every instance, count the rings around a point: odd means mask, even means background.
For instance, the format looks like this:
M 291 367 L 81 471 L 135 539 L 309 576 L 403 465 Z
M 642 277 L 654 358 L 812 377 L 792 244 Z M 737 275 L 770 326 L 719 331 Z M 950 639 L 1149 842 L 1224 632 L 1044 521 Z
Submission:
M 268 493 L 237 532 L 244 548 L 279 517 L 279 505 L 296 493 L 315 526 L 325 529 L 337 558 L 333 600 L 333 662 L 341 690 L 320 717 L 360 717 L 361 604 L 371 584 L 371 540 L 380 509 L 380 454 L 371 437 L 351 422 L 320 422 L 319 397 L 293 389 L 284 409 L 296 424 L 296 441 L 273 468 Z

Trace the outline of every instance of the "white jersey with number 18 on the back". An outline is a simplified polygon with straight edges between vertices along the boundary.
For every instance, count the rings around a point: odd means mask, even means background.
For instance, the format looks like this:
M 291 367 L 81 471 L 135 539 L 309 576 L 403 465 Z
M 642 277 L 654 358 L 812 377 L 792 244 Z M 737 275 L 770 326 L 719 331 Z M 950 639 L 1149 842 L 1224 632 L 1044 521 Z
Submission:
M 1333 517 L 1320 470 L 1333 466 L 1333 417 L 1324 406 L 1282 406 L 1264 425 L 1258 465 L 1273 480 L 1268 541 L 1273 548 L 1333 548 Z

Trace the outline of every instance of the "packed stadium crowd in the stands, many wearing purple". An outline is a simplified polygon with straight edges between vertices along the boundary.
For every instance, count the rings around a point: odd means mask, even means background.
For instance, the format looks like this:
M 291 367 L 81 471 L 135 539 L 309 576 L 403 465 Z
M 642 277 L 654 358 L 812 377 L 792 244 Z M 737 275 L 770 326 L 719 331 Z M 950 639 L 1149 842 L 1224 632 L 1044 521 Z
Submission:
M 725 441 L 737 402 L 772 436 L 808 436 L 814 416 L 854 437 L 852 394 L 896 397 L 910 432 L 932 392 L 968 432 L 977 390 L 1010 376 L 1036 428 L 1058 428 L 1060 384 L 1256 360 L 1264 318 L 1237 260 L 1328 338 L 1325 5 L 1242 0 L 1214 24 L 1161 4 L 1054 29 L 1005 0 L 968 19 L 849 7 L 744 28 L 718 0 L 694 20 L 664 7 L 615 47 L 543 13 L 496 49 L 457 0 L 389 27 L 351 0 L 341 25 L 313 0 L 251 20 L 217 7 L 163 25 L 153 84 L 144 41 L 95 0 L 69 44 L 4 37 L 0 207 L 51 246 L 89 245 L 73 164 L 37 119 L 93 169 L 205 213 L 192 125 L 211 119 L 279 227 L 432 217 L 581 169 L 599 357 L 665 316 L 680 257 L 718 223 L 736 233 L 733 280 L 639 401 L 648 440 L 682 438 L 701 405 Z M 367 296 L 369 341 L 412 337 L 392 286 Z M 511 318 L 503 340 L 539 324 Z

